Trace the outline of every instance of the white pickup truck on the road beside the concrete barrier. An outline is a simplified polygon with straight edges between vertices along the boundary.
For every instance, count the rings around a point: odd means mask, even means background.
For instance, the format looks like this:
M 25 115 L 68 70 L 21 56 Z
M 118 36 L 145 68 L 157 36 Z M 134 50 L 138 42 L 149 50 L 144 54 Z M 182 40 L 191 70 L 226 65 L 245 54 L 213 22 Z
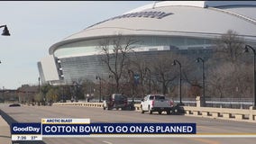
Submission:
M 172 112 L 173 101 L 169 101 L 163 94 L 148 94 L 142 99 L 141 112 L 161 112 L 165 111 L 167 114 Z

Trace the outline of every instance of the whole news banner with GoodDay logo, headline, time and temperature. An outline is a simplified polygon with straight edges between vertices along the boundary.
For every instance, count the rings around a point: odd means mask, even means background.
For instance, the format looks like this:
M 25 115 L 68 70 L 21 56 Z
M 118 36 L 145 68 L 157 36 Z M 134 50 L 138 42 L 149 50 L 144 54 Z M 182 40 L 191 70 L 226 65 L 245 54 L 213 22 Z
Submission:
M 12 140 L 43 137 L 148 137 L 196 134 L 196 123 L 91 123 L 90 119 L 45 118 L 41 123 L 13 123 Z

